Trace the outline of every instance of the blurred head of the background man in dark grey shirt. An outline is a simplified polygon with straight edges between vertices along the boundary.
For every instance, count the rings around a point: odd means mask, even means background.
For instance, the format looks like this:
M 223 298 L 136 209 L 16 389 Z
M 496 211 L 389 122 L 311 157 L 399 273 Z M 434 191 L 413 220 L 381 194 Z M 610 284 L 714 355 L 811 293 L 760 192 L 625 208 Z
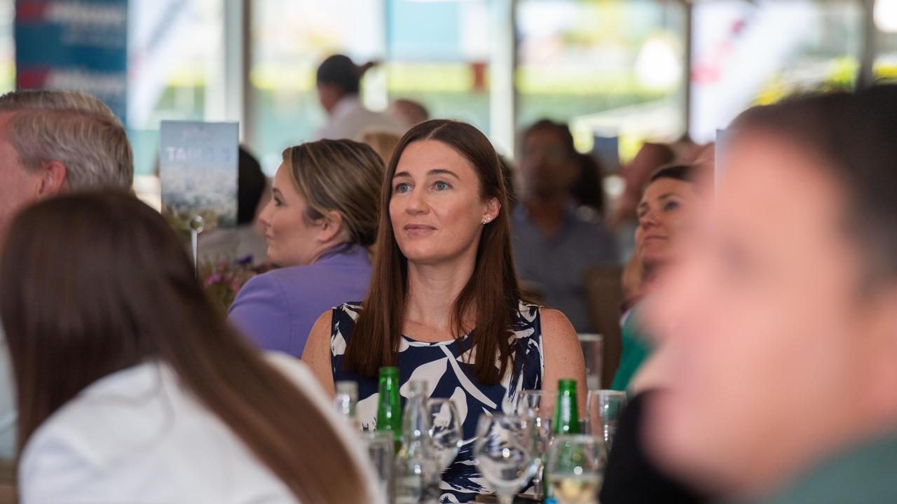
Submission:
M 580 169 L 570 129 L 542 119 L 529 126 L 521 144 L 520 175 L 525 199 L 569 197 Z

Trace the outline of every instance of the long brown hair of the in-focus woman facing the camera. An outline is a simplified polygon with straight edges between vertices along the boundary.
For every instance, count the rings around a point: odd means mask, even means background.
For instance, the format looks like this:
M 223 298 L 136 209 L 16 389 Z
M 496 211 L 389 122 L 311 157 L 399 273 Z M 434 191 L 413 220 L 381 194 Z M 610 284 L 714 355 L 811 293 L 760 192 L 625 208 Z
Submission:
M 511 317 L 518 310 L 522 297 L 511 256 L 508 195 L 492 143 L 474 126 L 445 119 L 425 121 L 408 130 L 389 161 L 380 191 L 382 212 L 370 291 L 346 345 L 344 369 L 373 377 L 379 367 L 396 365 L 405 321 L 408 259 L 398 248 L 393 234 L 389 200 L 392 198 L 392 178 L 402 152 L 411 143 L 422 140 L 445 143 L 464 156 L 474 166 L 479 178 L 480 197 L 483 200 L 496 198 L 501 204 L 498 216 L 483 225 L 474 274 L 458 294 L 452 308 L 456 339 L 466 329 L 464 317 L 475 314 L 475 328 L 471 334 L 476 348 L 473 362 L 475 376 L 480 383 L 495 384 L 504 376 L 511 361 L 508 338 Z M 498 369 L 495 367 L 496 356 L 501 361 Z

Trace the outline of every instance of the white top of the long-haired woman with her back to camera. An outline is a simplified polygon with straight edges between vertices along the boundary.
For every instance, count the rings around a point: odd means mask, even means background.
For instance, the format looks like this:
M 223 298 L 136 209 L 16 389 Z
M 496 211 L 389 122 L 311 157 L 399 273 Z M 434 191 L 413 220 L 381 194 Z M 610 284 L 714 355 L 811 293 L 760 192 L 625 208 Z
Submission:
M 360 441 L 305 365 L 283 354 L 270 354 L 269 361 L 342 434 L 366 476 L 365 502 L 382 502 Z M 29 439 L 18 475 L 22 504 L 297 502 L 217 416 L 179 386 L 167 365 L 156 362 L 101 378 L 53 413 Z

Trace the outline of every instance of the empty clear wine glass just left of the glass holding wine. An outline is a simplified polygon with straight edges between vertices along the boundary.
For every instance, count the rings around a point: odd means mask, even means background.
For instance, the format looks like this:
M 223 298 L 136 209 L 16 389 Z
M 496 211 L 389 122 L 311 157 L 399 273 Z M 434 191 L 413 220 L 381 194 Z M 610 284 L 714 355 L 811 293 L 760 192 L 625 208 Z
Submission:
M 517 415 L 483 413 L 476 426 L 474 456 L 499 504 L 511 504 L 514 494 L 536 472 L 533 422 Z

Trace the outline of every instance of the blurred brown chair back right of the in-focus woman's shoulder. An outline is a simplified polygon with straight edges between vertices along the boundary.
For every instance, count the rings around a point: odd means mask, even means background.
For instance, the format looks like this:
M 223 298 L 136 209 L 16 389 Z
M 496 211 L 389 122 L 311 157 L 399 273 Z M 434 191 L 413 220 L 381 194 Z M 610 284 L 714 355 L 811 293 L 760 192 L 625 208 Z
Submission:
M 599 266 L 586 273 L 586 302 L 595 333 L 604 336 L 602 387 L 610 387 L 620 365 L 623 343 L 620 336 L 620 306 L 623 304 L 623 269 Z

